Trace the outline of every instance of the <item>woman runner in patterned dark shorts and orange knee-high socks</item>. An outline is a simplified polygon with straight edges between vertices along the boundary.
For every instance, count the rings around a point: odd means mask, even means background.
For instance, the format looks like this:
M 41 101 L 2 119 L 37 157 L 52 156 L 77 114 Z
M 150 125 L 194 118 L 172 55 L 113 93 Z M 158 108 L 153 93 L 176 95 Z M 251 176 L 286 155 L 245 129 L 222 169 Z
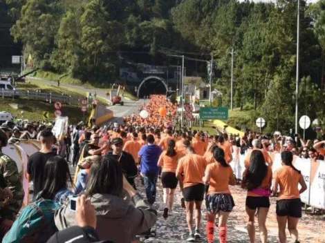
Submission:
M 214 238 L 214 220 L 219 217 L 219 241 L 227 242 L 227 220 L 234 207 L 234 200 L 229 185 L 234 186 L 236 179 L 234 172 L 225 162 L 225 152 L 222 148 L 213 151 L 215 162 L 208 164 L 205 169 L 203 182 L 210 184 L 205 198 L 207 206 L 207 242 L 212 243 Z

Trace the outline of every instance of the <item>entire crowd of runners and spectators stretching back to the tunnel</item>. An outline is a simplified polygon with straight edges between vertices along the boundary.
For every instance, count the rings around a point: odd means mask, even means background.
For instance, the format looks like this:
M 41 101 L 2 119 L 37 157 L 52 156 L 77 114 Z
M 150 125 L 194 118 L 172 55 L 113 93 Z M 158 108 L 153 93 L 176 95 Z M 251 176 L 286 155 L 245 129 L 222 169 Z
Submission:
M 162 114 L 160 108 L 167 113 Z M 209 134 L 204 128 L 177 129 L 172 126 L 177 107 L 163 95 L 151 95 L 140 109 L 147 110 L 146 119 L 133 114 L 124 117 L 124 124 L 71 125 L 62 141 L 55 139 L 48 124 L 26 124 L 25 128 L 12 122 L 3 124 L 3 242 L 129 243 L 150 231 L 157 217 L 167 219 L 172 215 L 174 203 L 185 208 L 188 242 L 214 242 L 215 230 L 219 232 L 219 242 L 227 242 L 227 221 L 236 204 L 229 185 L 238 182 L 229 165 L 233 146 L 246 154 L 241 187 L 247 191 L 245 211 L 250 242 L 256 242 L 256 216 L 261 242 L 268 242 L 266 221 L 272 195 L 277 197 L 279 242 L 287 242 L 286 226 L 294 242 L 299 242 L 300 194 L 306 190 L 306 183 L 293 166 L 293 157 L 324 159 L 325 141 L 305 142 L 299 136 L 295 141 L 278 132 L 248 132 L 239 137 L 217 130 Z M 28 160 L 26 176 L 33 185 L 33 196 L 22 210 L 21 175 L 15 162 L 1 153 L 8 141 L 15 143 L 21 139 L 39 139 L 41 143 L 41 150 Z M 274 174 L 268 151 L 281 153 L 283 166 Z M 74 176 L 69 166 L 76 168 Z M 138 178 L 145 191 L 138 191 Z M 162 215 L 155 208 L 158 179 L 163 185 Z M 174 202 L 178 186 L 182 198 Z M 202 207 L 207 209 L 205 226 L 201 225 Z M 202 239 L 204 230 L 207 239 Z

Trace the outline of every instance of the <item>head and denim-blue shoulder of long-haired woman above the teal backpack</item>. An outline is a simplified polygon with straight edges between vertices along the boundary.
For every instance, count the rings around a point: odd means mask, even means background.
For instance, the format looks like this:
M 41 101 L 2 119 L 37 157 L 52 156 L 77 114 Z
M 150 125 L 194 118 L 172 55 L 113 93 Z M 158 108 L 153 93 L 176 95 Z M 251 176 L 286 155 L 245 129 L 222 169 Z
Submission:
M 68 162 L 61 156 L 48 159 L 44 170 L 44 188 L 40 191 L 36 200 L 39 198 L 54 200 L 58 204 L 64 204 L 66 199 L 74 195 L 68 189 L 68 183 L 73 186 L 73 179 L 70 175 Z

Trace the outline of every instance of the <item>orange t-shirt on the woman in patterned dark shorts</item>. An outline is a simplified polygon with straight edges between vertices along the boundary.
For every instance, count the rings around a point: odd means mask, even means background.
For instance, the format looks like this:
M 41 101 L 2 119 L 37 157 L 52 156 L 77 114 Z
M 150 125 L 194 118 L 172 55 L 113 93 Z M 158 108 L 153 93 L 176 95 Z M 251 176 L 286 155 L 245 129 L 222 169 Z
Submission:
M 216 162 L 213 164 L 208 164 L 205 171 L 209 171 L 211 173 L 210 186 L 207 194 L 231 194 L 229 191 L 229 182 L 230 180 L 234 181 L 234 172 L 230 166 L 223 167 L 220 163 Z

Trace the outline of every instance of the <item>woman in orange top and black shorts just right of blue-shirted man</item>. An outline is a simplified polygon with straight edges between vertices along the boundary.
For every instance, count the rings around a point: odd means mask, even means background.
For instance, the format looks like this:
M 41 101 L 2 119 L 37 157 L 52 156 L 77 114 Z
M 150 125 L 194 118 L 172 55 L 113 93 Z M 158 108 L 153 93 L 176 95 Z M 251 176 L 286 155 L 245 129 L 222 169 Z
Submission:
M 161 183 L 163 184 L 163 200 L 165 204 L 163 217 L 168 217 L 168 212 L 173 210 L 175 190 L 178 184 L 176 168 L 178 165 L 178 153 L 175 150 L 174 140 L 168 141 L 167 151 L 164 151 L 158 160 L 158 166 L 162 168 Z

